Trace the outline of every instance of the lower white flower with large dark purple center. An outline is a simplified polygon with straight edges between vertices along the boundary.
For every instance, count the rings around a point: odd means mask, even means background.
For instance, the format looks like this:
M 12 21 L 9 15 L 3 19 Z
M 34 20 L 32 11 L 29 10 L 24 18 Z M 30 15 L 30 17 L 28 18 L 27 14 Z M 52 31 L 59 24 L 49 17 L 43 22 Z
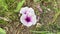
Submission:
M 20 21 L 21 23 L 23 23 L 23 25 L 29 27 L 31 25 L 35 25 L 36 24 L 36 15 L 22 15 L 20 17 Z

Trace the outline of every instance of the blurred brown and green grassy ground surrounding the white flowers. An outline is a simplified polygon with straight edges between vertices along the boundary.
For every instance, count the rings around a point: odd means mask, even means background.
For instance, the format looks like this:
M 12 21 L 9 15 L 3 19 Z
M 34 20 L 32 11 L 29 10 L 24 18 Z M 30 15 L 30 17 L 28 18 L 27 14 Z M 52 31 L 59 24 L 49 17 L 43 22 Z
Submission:
M 19 11 L 26 6 L 39 17 L 37 24 L 29 28 L 19 20 Z M 0 27 L 6 34 L 60 34 L 60 0 L 0 0 Z

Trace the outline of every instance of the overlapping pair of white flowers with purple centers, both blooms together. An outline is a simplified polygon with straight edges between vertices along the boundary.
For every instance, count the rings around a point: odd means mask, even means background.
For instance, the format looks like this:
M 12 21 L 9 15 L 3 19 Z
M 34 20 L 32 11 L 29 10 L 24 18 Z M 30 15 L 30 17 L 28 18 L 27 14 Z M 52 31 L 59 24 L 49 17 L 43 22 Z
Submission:
M 36 15 L 32 8 L 24 7 L 21 9 L 20 13 L 22 14 L 20 21 L 24 26 L 30 27 L 36 24 Z

